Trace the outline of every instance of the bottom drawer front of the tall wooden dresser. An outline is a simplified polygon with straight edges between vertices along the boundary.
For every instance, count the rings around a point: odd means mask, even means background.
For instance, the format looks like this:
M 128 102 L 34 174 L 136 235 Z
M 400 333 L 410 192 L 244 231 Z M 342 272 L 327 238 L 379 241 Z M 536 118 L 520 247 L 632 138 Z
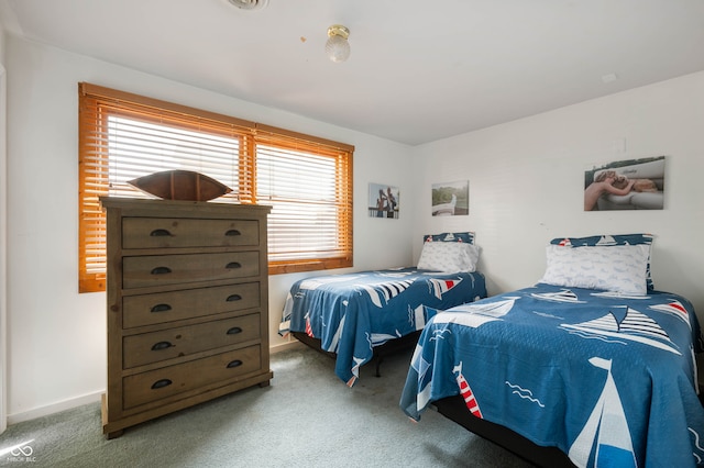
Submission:
M 230 379 L 260 368 L 260 346 L 255 345 L 128 376 L 122 379 L 123 409 L 168 399 L 211 383 L 226 385 Z

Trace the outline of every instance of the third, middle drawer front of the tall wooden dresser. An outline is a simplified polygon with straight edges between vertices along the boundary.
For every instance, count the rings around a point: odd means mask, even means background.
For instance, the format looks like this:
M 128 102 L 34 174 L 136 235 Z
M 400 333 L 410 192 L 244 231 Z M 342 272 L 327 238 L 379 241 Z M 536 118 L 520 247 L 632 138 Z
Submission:
M 256 309 L 260 282 L 182 289 L 122 298 L 122 326 L 154 325 L 184 319 Z

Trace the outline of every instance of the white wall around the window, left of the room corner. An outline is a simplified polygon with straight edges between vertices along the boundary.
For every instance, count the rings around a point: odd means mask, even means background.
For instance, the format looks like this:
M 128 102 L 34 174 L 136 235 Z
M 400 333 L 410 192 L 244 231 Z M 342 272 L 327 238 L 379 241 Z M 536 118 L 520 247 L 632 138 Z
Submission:
M 410 189 L 407 146 L 14 36 L 8 37 L 7 59 L 11 423 L 96 401 L 106 385 L 106 296 L 78 294 L 79 81 L 355 145 L 354 269 L 410 263 L 410 210 L 399 220 L 366 212 L 370 182 Z M 272 277 L 273 345 L 285 344 L 276 334 L 280 310 L 300 276 Z

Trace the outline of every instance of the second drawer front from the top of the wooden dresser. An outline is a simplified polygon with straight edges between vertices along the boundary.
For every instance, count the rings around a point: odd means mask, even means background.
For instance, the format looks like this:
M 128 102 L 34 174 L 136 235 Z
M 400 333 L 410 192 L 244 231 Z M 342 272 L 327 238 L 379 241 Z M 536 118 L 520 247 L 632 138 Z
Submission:
M 238 279 L 258 275 L 258 252 L 144 255 L 122 258 L 122 287 L 125 289 Z

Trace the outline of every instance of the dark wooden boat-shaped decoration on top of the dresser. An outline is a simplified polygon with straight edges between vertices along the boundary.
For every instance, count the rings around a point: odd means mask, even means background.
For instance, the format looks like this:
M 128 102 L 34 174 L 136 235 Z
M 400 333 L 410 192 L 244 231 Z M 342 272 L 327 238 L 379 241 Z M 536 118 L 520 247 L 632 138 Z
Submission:
M 232 191 L 204 174 L 180 169 L 150 174 L 128 183 L 165 200 L 208 201 Z

